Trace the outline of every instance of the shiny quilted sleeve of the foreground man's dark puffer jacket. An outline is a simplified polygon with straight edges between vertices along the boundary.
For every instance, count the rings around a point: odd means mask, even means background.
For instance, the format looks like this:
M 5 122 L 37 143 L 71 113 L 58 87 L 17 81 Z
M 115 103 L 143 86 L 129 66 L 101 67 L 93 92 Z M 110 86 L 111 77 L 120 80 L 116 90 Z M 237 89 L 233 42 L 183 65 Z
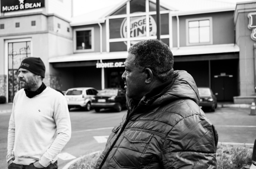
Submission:
M 180 120 L 163 146 L 163 168 L 216 168 L 216 136 L 217 131 L 205 116 L 192 115 Z

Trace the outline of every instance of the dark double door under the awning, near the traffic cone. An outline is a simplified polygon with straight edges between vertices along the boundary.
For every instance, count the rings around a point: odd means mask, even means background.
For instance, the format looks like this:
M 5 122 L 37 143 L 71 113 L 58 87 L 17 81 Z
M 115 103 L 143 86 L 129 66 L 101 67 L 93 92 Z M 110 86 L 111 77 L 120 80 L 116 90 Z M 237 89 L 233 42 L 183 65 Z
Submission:
M 213 91 L 217 97 L 217 101 L 233 101 L 233 84 L 234 78 L 232 75 L 214 76 Z

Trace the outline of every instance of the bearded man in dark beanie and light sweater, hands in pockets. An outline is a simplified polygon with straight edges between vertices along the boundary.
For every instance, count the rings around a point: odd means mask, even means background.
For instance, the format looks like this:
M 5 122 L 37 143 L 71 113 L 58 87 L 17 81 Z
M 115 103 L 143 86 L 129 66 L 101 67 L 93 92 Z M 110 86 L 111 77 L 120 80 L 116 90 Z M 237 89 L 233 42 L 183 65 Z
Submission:
M 46 87 L 45 65 L 28 57 L 19 67 L 20 89 L 14 96 L 8 129 L 8 169 L 58 168 L 57 155 L 71 137 L 67 100 Z

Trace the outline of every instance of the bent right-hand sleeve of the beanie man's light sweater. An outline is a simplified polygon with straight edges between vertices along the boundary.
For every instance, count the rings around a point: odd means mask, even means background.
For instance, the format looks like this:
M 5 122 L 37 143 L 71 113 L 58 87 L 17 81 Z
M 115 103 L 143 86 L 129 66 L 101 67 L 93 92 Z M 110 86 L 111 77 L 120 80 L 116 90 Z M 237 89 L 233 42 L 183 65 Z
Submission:
M 71 122 L 66 98 L 62 97 L 54 105 L 53 118 L 57 127 L 57 137 L 39 159 L 39 163 L 44 167 L 47 167 L 52 162 L 53 158 L 61 152 L 71 137 Z

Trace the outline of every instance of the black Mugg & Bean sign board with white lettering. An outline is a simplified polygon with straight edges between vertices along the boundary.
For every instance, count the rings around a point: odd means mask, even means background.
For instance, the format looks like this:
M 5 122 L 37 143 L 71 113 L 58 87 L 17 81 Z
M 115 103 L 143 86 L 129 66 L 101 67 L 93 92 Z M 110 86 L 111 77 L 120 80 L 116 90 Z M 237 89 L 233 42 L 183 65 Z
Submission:
M 1 0 L 1 12 L 42 8 L 45 0 Z

